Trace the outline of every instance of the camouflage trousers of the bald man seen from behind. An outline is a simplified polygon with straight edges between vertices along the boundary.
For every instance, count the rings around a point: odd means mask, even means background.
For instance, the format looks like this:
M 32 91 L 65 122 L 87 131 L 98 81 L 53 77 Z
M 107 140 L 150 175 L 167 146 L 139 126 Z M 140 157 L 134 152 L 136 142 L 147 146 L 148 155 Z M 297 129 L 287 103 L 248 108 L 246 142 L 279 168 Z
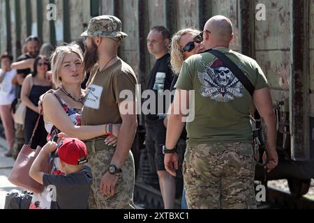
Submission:
M 252 144 L 188 147 L 183 167 L 188 208 L 256 208 L 255 164 Z

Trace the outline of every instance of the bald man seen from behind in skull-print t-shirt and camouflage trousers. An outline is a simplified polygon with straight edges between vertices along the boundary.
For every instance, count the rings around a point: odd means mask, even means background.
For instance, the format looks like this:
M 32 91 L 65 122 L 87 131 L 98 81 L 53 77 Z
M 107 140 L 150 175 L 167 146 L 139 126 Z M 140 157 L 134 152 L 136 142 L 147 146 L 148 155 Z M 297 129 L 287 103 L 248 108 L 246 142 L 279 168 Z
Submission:
M 188 141 L 183 167 L 188 208 L 256 208 L 256 162 L 249 117 L 252 103 L 262 117 L 268 170 L 278 163 L 267 79 L 256 61 L 229 49 L 234 34 L 227 17 L 211 17 L 202 35 L 204 47 L 218 49 L 237 64 L 255 91 L 252 97 L 223 62 L 209 52 L 190 56 L 184 62 L 172 111 L 181 111 L 181 102 L 194 102 L 195 118 L 186 123 Z M 194 91 L 193 98 L 188 91 Z M 171 114 L 167 123 L 165 169 L 174 176 L 178 161 L 173 152 L 184 128 L 183 117 L 183 112 Z

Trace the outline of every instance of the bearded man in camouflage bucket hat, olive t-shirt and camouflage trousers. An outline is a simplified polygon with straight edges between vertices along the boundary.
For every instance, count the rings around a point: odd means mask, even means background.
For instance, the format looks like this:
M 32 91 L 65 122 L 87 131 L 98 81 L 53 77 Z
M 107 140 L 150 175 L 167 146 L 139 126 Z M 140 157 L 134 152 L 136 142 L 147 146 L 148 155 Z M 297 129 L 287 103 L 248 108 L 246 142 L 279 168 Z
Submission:
M 133 69 L 118 56 L 118 47 L 126 33 L 121 31 L 121 21 L 111 15 L 94 17 L 89 22 L 84 55 L 85 70 L 91 70 L 87 82 L 87 95 L 82 111 L 83 125 L 121 123 L 119 137 L 96 138 L 85 141 L 93 185 L 89 208 L 134 208 L 133 192 L 135 167 L 130 148 L 137 129 L 135 110 L 135 85 Z M 121 98 L 121 91 L 128 91 L 131 98 Z M 105 141 L 104 141 L 105 139 Z M 117 141 L 115 146 L 108 146 Z

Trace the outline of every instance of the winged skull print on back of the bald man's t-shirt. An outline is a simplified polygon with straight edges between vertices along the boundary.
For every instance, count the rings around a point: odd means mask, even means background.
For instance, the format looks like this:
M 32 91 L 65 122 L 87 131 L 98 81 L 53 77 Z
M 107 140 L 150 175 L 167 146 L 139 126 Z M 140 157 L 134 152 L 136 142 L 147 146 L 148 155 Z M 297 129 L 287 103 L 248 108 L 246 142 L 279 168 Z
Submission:
M 234 98 L 244 96 L 244 86 L 229 68 L 223 66 L 220 60 L 216 59 L 208 66 L 202 61 L 200 64 L 204 71 L 197 72 L 197 77 L 202 84 L 200 89 L 202 97 L 211 98 L 217 102 L 229 102 Z

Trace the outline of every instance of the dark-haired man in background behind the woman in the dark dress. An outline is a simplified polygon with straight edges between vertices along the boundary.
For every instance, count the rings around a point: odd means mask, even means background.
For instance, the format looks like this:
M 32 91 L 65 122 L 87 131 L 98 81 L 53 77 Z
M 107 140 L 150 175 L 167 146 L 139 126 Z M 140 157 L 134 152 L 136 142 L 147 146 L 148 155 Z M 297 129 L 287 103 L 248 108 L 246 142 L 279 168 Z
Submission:
M 40 41 L 38 37 L 36 36 L 29 36 L 25 40 L 25 46 L 27 48 L 27 54 L 22 54 L 17 58 L 17 61 L 24 61 L 27 59 L 35 59 L 36 56 L 39 54 L 40 50 Z M 12 108 L 13 111 L 17 109 L 17 107 L 20 105 L 20 95 L 21 95 L 21 89 L 22 84 L 24 81 L 24 78 L 31 73 L 31 69 L 24 69 L 24 70 L 17 70 L 17 75 L 15 78 L 15 100 L 13 101 Z M 15 142 L 13 146 L 13 157 L 16 158 L 18 153 L 20 153 L 20 150 L 24 144 L 24 130 L 23 125 L 15 123 Z

